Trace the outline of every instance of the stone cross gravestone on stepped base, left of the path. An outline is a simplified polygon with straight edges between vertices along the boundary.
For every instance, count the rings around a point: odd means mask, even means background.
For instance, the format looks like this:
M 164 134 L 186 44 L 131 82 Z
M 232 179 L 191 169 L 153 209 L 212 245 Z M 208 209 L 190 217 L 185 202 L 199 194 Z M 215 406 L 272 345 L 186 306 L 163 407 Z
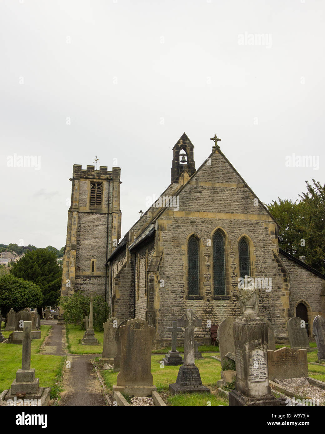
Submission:
M 27 312 L 26 310 L 24 312 Z M 24 399 L 40 400 L 37 405 L 46 405 L 50 399 L 50 388 L 40 387 L 39 378 L 35 378 L 35 368 L 30 368 L 30 355 L 31 355 L 31 333 L 41 338 L 41 332 L 32 332 L 32 322 L 23 322 L 23 331 L 14 332 L 22 334 L 22 363 L 21 369 L 16 372 L 16 379 L 13 380 L 10 390 L 3 391 L 0 399 L 4 401 L 13 400 L 16 398 L 17 392 L 25 392 Z

